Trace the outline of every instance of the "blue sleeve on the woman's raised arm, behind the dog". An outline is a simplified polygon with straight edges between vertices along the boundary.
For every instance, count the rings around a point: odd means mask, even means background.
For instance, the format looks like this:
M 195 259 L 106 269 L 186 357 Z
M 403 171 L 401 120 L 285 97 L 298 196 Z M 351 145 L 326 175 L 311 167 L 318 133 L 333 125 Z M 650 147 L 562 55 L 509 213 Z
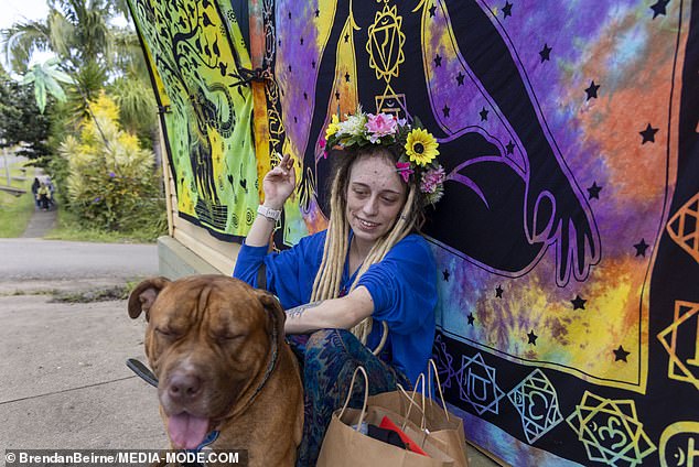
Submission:
M 257 273 L 265 264 L 266 289 L 279 297 L 284 309 L 308 303 L 323 257 L 325 231 L 304 237 L 294 247 L 269 252 L 267 247 L 240 246 L 233 276 L 258 287 Z

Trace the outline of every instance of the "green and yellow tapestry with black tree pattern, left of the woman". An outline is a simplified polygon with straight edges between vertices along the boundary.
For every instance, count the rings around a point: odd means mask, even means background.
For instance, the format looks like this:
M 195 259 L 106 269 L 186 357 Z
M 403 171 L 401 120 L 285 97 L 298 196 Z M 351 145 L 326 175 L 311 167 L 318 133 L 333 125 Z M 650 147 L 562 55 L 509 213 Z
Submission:
M 250 58 L 228 3 L 129 0 L 158 100 L 179 216 L 241 238 L 259 204 Z

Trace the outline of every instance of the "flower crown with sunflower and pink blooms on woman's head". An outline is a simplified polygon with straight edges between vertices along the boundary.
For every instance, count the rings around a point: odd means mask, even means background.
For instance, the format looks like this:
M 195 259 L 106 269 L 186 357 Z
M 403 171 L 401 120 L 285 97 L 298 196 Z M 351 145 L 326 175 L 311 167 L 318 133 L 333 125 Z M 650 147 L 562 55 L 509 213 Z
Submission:
M 365 113 L 358 108 L 354 115 L 345 115 L 340 121 L 333 115 L 321 148 L 362 148 L 367 144 L 400 145 L 405 151 L 396 162 L 396 171 L 408 183 L 412 175 L 419 177 L 420 192 L 427 202 L 435 204 L 444 194 L 444 169 L 437 161 L 439 143 L 419 119 L 411 126 L 406 119 L 389 113 Z

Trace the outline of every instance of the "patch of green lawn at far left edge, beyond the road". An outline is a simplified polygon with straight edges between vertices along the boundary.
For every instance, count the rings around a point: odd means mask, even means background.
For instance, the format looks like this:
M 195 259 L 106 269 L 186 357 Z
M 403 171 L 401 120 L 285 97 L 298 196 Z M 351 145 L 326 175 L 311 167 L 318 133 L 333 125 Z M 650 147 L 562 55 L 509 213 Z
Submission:
M 26 225 L 34 214 L 34 198 L 32 197 L 32 169 L 22 172 L 22 164 L 10 166 L 10 176 L 26 176 L 25 181 L 12 180 L 10 186 L 23 188 L 25 194 L 14 196 L 0 191 L 0 238 L 20 237 L 26 229 Z M 0 185 L 7 185 L 7 173 L 4 167 L 0 169 Z

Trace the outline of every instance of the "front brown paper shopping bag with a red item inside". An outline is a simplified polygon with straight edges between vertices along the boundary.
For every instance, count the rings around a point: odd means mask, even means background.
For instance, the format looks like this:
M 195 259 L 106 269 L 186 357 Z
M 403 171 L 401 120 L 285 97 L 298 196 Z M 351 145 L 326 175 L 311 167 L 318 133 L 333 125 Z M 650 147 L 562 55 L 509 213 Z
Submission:
M 352 388 L 357 373 L 364 376 L 364 404 L 362 409 L 347 409 Z M 358 367 L 352 377 L 350 393 L 344 406 L 333 413 L 332 421 L 323 439 L 316 467 L 453 467 L 454 460 L 444 454 L 439 446 L 421 436 L 423 432 L 411 422 L 406 421 L 384 408 L 367 406 L 368 379 L 364 368 Z M 390 417 L 395 424 L 402 426 L 404 432 L 428 454 L 423 456 L 410 450 L 370 438 L 358 431 L 362 422 L 378 425 L 384 416 Z

